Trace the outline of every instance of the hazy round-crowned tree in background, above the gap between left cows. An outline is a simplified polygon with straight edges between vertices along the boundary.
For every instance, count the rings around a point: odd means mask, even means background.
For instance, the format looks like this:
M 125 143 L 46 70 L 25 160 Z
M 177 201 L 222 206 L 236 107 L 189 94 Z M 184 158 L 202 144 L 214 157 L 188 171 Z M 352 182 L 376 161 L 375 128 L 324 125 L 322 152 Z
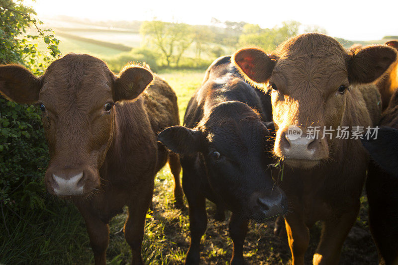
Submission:
M 183 53 L 194 41 L 192 26 L 184 23 L 145 21 L 140 33 L 149 45 L 160 51 L 168 67 L 174 57 L 178 66 Z

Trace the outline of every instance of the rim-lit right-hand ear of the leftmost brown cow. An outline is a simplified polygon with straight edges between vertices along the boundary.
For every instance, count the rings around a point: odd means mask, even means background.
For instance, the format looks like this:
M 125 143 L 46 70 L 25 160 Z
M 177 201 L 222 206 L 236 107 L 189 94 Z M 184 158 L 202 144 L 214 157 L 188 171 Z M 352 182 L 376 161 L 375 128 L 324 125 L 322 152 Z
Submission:
M 139 96 L 153 81 L 151 71 L 140 66 L 127 66 L 113 84 L 113 100 L 130 100 Z

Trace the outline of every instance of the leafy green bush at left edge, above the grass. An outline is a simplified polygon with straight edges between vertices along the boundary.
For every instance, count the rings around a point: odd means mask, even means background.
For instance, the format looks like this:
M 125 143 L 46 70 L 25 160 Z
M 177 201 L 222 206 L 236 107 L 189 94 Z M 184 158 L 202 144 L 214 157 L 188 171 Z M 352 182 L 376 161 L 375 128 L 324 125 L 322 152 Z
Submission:
M 34 73 L 58 58 L 59 41 L 51 30 L 40 29 L 33 9 L 22 1 L 0 0 L 0 63 L 19 63 Z M 26 35 L 29 27 L 36 35 Z M 47 52 L 31 40 L 42 40 Z M 48 151 L 40 119 L 34 106 L 9 102 L 0 96 L 0 202 L 14 210 L 43 208 L 43 173 Z

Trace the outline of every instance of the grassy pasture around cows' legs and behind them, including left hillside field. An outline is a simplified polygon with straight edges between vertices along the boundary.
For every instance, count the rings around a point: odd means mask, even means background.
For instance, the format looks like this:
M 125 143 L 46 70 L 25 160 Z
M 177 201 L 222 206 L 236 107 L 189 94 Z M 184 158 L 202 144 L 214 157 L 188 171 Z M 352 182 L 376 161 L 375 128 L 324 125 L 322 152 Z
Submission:
M 55 22 L 52 21 L 52 23 Z M 55 29 L 55 36 L 61 41 L 59 48 L 64 55 L 69 52 L 87 53 L 107 61 L 111 58 L 129 56 L 126 49 L 142 45 L 141 36 L 133 30 L 96 27 L 65 21 L 49 26 Z M 354 43 L 342 39 L 339 41 L 345 47 Z M 356 43 L 367 45 L 385 41 L 384 39 Z M 40 43 L 39 48 L 44 49 L 45 45 Z M 225 47 L 223 50 L 225 53 L 232 53 L 236 48 Z M 193 49 L 187 50 L 187 54 L 190 56 L 189 59 L 198 63 L 198 59 L 194 58 Z M 203 57 L 206 60 L 214 59 L 204 52 L 201 58 Z M 123 65 L 127 63 L 124 59 L 120 61 Z M 115 69 L 112 70 L 117 72 L 118 70 Z M 192 94 L 202 83 L 204 70 L 205 68 L 201 70 L 163 68 L 157 73 L 177 93 L 181 124 Z M 1 181 L 2 179 L 0 183 Z M 38 184 L 44 188 L 43 180 Z M 172 174 L 166 166 L 155 178 L 154 208 L 153 211 L 148 211 L 146 216 L 142 246 L 145 264 L 178 265 L 185 262 L 190 244 L 188 209 L 178 210 L 174 207 L 173 186 Z M 31 188 L 33 193 L 35 187 Z M 51 201 L 51 204 L 43 207 L 43 210 L 35 210 L 34 214 L 26 215 L 19 215 L 9 206 L 12 204 L 2 204 L 0 201 L 0 230 L 2 231 L 0 233 L 0 264 L 94 264 L 86 226 L 76 207 L 48 193 L 45 196 L 49 199 L 46 201 Z M 188 206 L 187 201 L 185 205 Z M 206 206 L 209 219 L 207 230 L 201 239 L 201 261 L 203 264 L 211 265 L 228 264 L 232 255 L 232 240 L 229 237 L 227 225 L 230 213 L 226 214 L 224 222 L 218 222 L 212 218 L 215 206 L 210 202 L 207 202 Z M 377 264 L 378 255 L 369 231 L 367 210 L 367 198 L 363 192 L 360 213 L 343 246 L 340 264 Z M 130 247 L 123 235 L 126 216 L 127 208 L 124 208 L 123 213 L 115 216 L 109 223 L 110 241 L 107 249 L 107 263 L 110 265 L 129 264 L 131 261 Z M 253 221 L 249 223 L 244 244 L 244 257 L 247 264 L 291 264 L 286 233 L 275 236 L 273 230 L 274 221 L 265 224 L 256 224 Z M 319 223 L 312 227 L 310 234 L 305 264 L 311 263 L 312 254 L 319 241 L 321 234 Z

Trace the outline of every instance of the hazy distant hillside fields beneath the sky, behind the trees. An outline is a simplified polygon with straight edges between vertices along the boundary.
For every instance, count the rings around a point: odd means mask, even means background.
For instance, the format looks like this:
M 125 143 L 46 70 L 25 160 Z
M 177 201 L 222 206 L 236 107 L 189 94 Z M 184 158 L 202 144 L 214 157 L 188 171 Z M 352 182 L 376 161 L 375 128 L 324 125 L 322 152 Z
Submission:
M 71 16 L 47 17 L 42 20 L 43 27 L 52 28 L 55 36 L 61 40 L 60 49 L 63 54 L 74 52 L 90 53 L 100 58 L 113 57 L 142 45 L 139 29 L 143 21 L 92 21 Z M 218 22 L 211 26 L 197 25 L 196 27 L 213 34 L 213 43 L 221 47 L 222 54 L 231 54 L 237 48 L 237 40 L 245 22 Z M 384 44 L 388 40 L 398 39 L 398 36 L 385 36 L 382 40 L 373 41 L 351 41 L 338 37 L 336 39 L 345 48 L 349 48 L 356 43 L 364 46 Z M 193 57 L 194 51 L 188 51 L 188 53 Z M 203 53 L 203 56 L 206 54 Z

